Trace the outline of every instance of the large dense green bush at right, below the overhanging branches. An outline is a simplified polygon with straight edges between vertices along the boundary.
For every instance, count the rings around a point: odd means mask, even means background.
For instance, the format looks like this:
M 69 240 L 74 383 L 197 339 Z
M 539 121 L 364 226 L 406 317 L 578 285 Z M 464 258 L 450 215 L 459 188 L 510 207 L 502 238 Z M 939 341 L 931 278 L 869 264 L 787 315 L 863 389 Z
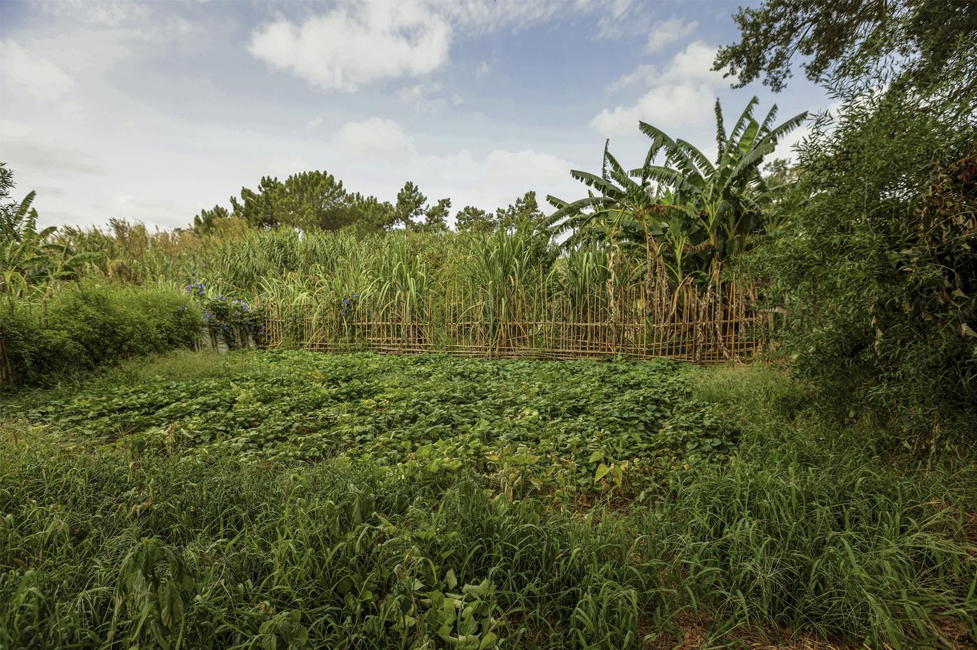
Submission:
M 843 412 L 922 432 L 977 404 L 974 153 L 871 103 L 803 150 L 803 202 L 751 262 L 786 310 L 781 350 Z

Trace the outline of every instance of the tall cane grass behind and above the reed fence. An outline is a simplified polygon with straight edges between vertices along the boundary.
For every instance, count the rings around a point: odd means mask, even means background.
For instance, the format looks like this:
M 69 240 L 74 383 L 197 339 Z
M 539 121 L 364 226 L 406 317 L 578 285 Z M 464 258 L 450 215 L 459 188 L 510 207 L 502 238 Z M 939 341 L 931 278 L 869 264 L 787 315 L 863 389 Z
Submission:
M 113 221 L 111 232 L 67 229 L 65 244 L 102 257 L 89 273 L 124 282 L 205 282 L 226 295 L 266 296 L 282 304 L 307 298 L 334 303 L 353 293 L 419 308 L 442 307 L 449 285 L 481 289 L 492 310 L 510 304 L 516 290 L 573 287 L 579 295 L 607 281 L 607 252 L 591 248 L 555 264 L 547 234 L 522 225 L 489 236 L 394 232 L 255 231 L 235 226 L 210 235 L 149 233 L 145 226 Z

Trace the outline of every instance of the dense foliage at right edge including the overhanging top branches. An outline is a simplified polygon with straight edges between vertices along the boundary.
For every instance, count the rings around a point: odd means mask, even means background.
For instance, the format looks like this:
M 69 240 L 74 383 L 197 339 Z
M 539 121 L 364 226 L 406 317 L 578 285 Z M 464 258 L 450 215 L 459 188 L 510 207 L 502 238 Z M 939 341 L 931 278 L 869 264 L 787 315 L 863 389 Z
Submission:
M 742 18 L 791 24 L 798 3 L 767 4 Z M 977 405 L 977 94 L 959 92 L 977 78 L 977 30 L 952 5 L 900 2 L 888 26 L 870 12 L 856 32 L 814 32 L 808 71 L 839 108 L 815 121 L 781 228 L 749 260 L 785 312 L 780 350 L 826 404 L 933 439 L 972 433 Z M 717 62 L 780 84 L 787 41 L 771 38 Z M 773 59 L 756 59 L 764 48 Z

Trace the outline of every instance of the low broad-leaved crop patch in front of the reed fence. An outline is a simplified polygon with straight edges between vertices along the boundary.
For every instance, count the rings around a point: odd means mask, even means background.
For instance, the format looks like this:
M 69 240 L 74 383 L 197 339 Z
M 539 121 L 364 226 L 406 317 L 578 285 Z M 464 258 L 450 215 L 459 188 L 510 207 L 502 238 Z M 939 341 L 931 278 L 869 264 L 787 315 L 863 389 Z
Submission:
M 90 440 L 204 455 L 343 456 L 409 476 L 464 469 L 510 496 L 576 498 L 595 486 L 636 489 L 656 472 L 729 453 L 736 432 L 714 405 L 692 398 L 690 377 L 664 361 L 280 352 L 241 357 L 230 377 L 98 386 L 27 415 Z

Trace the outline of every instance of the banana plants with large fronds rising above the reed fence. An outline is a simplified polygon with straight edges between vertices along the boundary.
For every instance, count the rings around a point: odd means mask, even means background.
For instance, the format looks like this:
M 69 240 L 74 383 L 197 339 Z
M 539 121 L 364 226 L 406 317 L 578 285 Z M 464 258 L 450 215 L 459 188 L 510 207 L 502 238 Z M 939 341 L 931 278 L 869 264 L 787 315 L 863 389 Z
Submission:
M 777 107 L 758 121 L 757 104 L 757 98 L 750 100 L 727 134 L 716 102 L 715 162 L 691 143 L 639 122 L 652 139 L 644 164 L 625 171 L 605 144 L 600 176 L 571 172 L 588 187 L 587 196 L 575 201 L 547 196 L 557 210 L 545 226 L 555 238 L 571 233 L 564 248 L 612 239 L 622 249 L 644 247 L 649 273 L 660 262 L 673 282 L 690 274 L 708 279 L 716 262 L 743 250 L 747 236 L 762 227 L 768 189 L 760 165 L 807 116 L 800 113 L 775 127 Z M 661 152 L 663 163 L 654 164 Z

